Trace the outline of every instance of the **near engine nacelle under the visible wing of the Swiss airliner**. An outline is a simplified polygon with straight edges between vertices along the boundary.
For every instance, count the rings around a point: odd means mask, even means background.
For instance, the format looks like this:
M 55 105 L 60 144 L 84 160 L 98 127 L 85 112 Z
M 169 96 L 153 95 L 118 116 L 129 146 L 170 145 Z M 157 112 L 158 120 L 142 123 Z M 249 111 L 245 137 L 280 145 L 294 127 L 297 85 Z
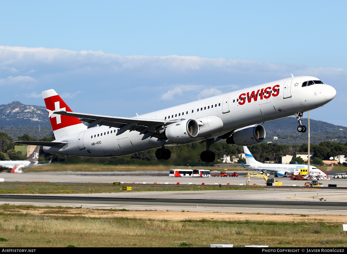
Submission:
M 187 141 L 195 138 L 199 133 L 199 125 L 193 119 L 170 124 L 165 129 L 165 136 L 169 141 Z

